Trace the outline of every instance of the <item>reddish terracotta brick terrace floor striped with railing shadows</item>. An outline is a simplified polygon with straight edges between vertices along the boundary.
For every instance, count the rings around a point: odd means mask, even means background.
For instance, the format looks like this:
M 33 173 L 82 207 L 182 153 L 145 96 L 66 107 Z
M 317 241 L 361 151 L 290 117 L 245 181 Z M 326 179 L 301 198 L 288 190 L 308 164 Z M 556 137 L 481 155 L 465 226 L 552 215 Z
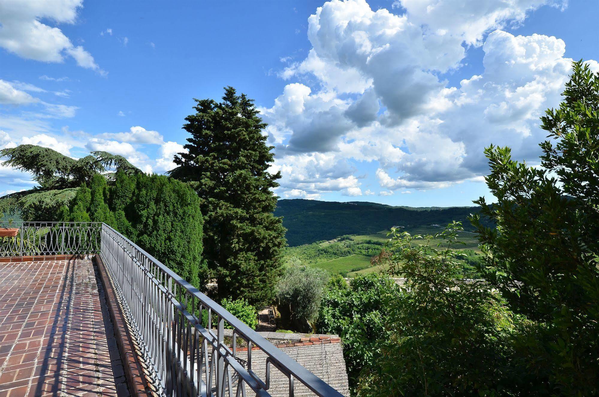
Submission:
M 91 260 L 0 263 L 5 396 L 129 396 Z

